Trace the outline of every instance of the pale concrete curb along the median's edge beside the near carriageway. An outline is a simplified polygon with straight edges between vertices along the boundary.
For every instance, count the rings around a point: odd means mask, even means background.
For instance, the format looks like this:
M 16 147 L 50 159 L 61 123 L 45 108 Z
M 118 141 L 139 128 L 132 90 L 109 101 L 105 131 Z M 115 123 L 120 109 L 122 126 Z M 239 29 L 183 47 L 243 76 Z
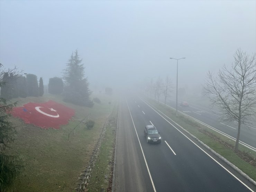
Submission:
M 150 103 L 149 103 L 150 104 Z M 151 104 L 150 104 L 151 105 Z M 152 106 L 152 105 L 151 105 Z M 184 129 L 182 126 L 180 126 L 179 124 L 177 124 L 175 121 L 173 121 L 170 117 L 166 116 L 162 111 L 158 110 L 156 107 L 152 106 L 153 108 L 155 108 L 157 111 L 159 111 L 160 113 L 162 113 L 165 117 L 167 117 L 168 119 L 170 119 L 174 124 L 176 124 L 177 126 L 179 126 L 183 131 L 185 131 L 186 133 L 188 133 L 191 137 L 193 137 L 195 140 L 197 140 L 200 144 L 202 144 L 205 148 L 207 148 L 208 150 L 210 150 L 214 155 L 218 156 L 222 161 L 224 161 L 225 163 L 227 163 L 229 166 L 231 166 L 232 168 L 234 168 L 234 170 L 236 170 L 238 173 L 240 173 L 241 175 L 243 175 L 247 180 L 249 180 L 251 183 L 253 183 L 256 186 L 256 182 L 250 178 L 246 173 L 244 173 L 243 171 L 241 171 L 237 166 L 235 166 L 234 164 L 232 164 L 230 161 L 228 161 L 226 158 L 222 157 L 220 154 L 218 154 L 217 152 L 215 152 L 212 148 L 210 148 L 209 146 L 205 145 L 200 139 L 198 139 L 197 137 L 195 137 L 194 135 L 192 135 L 189 131 L 187 131 L 186 129 Z

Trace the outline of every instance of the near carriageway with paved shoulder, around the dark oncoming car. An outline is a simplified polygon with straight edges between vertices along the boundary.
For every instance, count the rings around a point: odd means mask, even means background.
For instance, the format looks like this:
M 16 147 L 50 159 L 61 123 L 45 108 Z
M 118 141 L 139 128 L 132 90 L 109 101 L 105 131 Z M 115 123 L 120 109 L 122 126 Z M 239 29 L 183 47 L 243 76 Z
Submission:
M 161 144 L 148 144 L 153 124 Z M 138 97 L 120 99 L 114 191 L 256 191 L 255 185 Z

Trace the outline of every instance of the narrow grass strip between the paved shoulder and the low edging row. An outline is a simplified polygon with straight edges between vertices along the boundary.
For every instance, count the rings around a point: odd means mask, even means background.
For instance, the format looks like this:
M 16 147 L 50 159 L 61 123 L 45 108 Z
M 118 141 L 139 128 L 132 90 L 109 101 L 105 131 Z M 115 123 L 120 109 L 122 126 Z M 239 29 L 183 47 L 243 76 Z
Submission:
M 105 137 L 100 147 L 99 156 L 92 170 L 88 191 L 110 191 L 112 187 L 113 161 L 115 154 L 115 138 L 117 130 L 118 104 L 115 104 L 110 116 Z M 106 175 L 106 178 L 105 178 Z

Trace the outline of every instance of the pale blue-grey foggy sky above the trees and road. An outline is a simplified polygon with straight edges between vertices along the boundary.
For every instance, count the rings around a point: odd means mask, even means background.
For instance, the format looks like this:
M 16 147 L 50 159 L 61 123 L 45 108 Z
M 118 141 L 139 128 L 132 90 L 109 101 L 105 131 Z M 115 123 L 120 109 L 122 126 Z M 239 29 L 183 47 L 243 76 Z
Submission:
M 256 52 L 256 1 L 0 0 L 0 63 L 62 77 L 72 51 L 91 86 L 164 79 L 195 86 L 230 65 L 237 48 Z M 156 79 L 156 78 L 155 78 Z

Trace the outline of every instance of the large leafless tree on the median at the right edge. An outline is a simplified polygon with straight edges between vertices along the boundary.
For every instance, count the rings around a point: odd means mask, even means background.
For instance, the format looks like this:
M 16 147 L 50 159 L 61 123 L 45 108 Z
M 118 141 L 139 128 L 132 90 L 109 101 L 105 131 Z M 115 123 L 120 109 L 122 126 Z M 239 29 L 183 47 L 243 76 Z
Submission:
M 238 122 L 235 152 L 238 152 L 241 124 L 247 124 L 256 113 L 255 56 L 237 49 L 231 69 L 224 65 L 217 77 L 208 72 L 203 85 L 212 105 L 220 108 L 222 119 Z

